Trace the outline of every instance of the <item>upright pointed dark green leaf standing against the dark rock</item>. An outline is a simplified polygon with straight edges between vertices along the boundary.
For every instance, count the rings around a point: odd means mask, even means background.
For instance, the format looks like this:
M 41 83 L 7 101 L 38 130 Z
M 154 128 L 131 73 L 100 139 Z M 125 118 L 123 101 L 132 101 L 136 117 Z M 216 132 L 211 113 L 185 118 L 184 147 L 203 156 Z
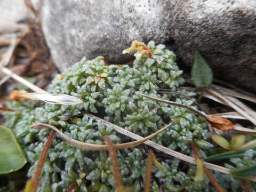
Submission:
M 204 85 L 205 87 L 211 85 L 213 81 L 212 69 L 199 52 L 196 52 L 195 55 L 191 79 L 195 86 Z

